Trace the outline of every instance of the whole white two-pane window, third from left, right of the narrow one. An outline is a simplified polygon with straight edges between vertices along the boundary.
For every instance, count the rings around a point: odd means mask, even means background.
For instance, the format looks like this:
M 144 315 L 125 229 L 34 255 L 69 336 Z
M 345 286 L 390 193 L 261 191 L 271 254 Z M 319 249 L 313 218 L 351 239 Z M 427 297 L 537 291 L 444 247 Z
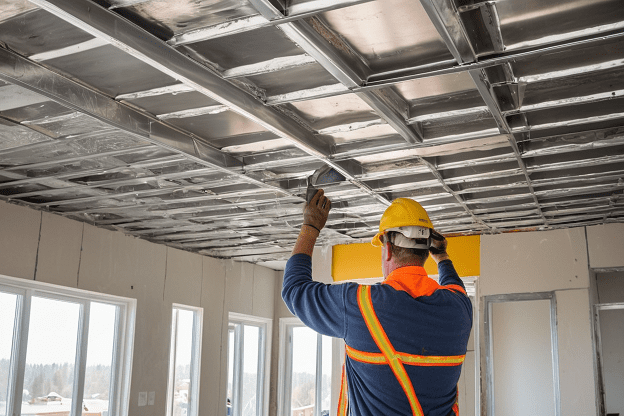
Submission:
M 267 414 L 271 320 L 236 313 L 229 318 L 227 414 Z

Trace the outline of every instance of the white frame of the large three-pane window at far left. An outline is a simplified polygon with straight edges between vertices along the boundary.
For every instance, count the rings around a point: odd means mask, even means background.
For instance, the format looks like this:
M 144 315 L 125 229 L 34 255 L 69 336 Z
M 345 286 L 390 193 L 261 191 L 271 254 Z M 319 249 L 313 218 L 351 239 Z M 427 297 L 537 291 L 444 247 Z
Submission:
M 24 372 L 28 346 L 30 307 L 33 296 L 72 302 L 80 305 L 78 342 L 74 365 L 74 386 L 71 415 L 82 415 L 85 370 L 87 364 L 89 312 L 91 302 L 117 307 L 115 340 L 109 390 L 109 415 L 127 416 L 130 404 L 132 353 L 134 351 L 134 323 L 136 299 L 107 295 L 82 289 L 67 288 L 50 283 L 18 279 L 0 275 L 0 291 L 18 295 L 11 348 L 11 369 L 7 394 L 7 414 L 21 414 Z

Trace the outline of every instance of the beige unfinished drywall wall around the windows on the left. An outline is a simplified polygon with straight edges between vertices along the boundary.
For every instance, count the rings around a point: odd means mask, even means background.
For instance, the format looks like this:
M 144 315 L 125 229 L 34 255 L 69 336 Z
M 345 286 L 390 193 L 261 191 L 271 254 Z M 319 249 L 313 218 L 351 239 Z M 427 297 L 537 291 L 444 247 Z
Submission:
M 0 274 L 137 299 L 132 416 L 165 414 L 172 303 L 204 308 L 199 411 L 224 415 L 228 313 L 272 319 L 279 275 L 4 202 Z M 153 406 L 138 406 L 143 391 Z

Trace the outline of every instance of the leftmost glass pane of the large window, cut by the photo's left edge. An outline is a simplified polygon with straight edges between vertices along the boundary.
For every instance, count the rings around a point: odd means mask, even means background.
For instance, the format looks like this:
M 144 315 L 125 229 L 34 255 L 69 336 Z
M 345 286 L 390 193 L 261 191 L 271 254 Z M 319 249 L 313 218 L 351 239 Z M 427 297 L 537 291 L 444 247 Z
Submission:
M 0 416 L 6 416 L 17 295 L 0 292 Z

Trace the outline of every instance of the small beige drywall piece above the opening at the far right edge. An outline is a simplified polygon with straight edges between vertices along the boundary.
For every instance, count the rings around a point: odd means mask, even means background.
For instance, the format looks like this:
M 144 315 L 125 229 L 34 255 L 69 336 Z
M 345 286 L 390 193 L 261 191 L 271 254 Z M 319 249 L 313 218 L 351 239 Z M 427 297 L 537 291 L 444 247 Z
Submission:
M 624 267 L 624 224 L 587 227 L 587 248 L 592 269 Z

